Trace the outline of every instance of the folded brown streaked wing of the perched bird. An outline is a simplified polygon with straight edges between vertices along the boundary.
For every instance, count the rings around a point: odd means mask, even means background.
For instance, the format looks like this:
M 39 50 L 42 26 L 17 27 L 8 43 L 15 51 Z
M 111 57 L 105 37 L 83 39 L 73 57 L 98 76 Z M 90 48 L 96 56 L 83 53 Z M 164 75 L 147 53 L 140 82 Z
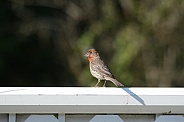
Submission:
M 100 73 L 102 73 L 103 76 L 111 76 L 114 77 L 111 73 L 111 70 L 108 68 L 107 65 L 103 62 L 101 59 L 96 59 L 95 61 L 91 62 L 93 63 L 94 69 L 98 70 Z

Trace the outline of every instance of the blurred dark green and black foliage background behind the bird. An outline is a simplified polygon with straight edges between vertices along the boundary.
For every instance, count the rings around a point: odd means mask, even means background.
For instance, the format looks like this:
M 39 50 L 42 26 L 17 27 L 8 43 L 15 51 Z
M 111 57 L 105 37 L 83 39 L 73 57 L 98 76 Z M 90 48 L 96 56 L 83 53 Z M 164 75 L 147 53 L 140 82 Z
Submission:
M 1 0 L 0 8 L 0 86 L 93 86 L 83 56 L 91 47 L 125 86 L 184 86 L 183 0 Z

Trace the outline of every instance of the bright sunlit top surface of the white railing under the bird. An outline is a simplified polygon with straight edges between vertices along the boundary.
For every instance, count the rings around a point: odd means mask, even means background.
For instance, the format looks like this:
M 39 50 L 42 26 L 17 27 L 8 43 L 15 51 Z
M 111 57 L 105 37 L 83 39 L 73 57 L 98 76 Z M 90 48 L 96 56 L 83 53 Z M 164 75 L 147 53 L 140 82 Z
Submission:
M 184 95 L 184 88 L 161 87 L 0 87 L 0 95 Z

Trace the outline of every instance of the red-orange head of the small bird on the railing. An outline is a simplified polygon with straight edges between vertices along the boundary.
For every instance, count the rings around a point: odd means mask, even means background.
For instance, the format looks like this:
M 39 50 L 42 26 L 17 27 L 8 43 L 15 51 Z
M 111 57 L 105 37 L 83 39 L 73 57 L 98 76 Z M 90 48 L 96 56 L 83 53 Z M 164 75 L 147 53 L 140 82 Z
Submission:
M 88 57 L 89 62 L 95 58 L 99 58 L 99 54 L 95 49 L 89 49 L 85 56 Z

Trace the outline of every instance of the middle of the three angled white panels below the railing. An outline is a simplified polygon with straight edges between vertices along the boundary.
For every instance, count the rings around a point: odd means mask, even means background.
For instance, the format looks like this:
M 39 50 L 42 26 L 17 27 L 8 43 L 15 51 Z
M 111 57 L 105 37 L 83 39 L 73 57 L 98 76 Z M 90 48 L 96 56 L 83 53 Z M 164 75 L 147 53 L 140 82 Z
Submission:
M 96 115 L 89 122 L 124 122 L 118 115 Z

